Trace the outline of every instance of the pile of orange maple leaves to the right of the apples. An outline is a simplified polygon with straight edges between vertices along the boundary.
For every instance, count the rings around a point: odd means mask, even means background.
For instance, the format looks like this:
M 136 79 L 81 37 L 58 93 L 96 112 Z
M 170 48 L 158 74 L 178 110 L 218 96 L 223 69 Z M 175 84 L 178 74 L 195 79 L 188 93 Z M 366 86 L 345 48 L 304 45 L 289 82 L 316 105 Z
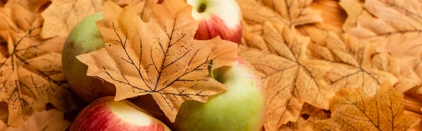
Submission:
M 402 93 L 421 94 L 421 1 L 341 0 L 343 30 L 324 25 L 311 3 L 238 0 L 245 21 L 238 55 L 267 80 L 265 129 L 416 125 L 403 113 Z

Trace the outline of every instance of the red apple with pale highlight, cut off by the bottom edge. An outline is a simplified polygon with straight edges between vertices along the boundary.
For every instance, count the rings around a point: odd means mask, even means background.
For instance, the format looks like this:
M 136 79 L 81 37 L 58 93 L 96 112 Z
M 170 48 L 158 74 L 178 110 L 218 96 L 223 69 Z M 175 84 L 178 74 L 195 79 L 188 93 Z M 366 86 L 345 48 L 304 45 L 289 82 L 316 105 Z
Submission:
M 77 115 L 70 130 L 170 130 L 131 102 L 113 100 L 113 96 L 105 96 L 93 101 Z

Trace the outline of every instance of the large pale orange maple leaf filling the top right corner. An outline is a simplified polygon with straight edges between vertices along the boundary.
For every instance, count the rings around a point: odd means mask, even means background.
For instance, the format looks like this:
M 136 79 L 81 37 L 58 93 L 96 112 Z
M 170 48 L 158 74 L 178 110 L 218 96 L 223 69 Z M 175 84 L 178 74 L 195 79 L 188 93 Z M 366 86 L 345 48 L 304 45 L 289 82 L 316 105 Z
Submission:
M 349 33 L 376 43 L 399 61 L 400 73 L 422 84 L 422 1 L 366 0 L 364 9 L 376 18 L 360 19 Z

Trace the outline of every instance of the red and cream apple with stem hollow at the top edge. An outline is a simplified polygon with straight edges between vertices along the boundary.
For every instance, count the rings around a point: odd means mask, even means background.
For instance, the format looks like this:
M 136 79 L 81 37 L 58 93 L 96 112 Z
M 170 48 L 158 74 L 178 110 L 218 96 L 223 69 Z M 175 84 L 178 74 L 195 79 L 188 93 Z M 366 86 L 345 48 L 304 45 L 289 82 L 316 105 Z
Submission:
M 220 36 L 240 43 L 242 13 L 235 0 L 187 0 L 193 6 L 192 16 L 198 21 L 195 39 L 207 40 Z

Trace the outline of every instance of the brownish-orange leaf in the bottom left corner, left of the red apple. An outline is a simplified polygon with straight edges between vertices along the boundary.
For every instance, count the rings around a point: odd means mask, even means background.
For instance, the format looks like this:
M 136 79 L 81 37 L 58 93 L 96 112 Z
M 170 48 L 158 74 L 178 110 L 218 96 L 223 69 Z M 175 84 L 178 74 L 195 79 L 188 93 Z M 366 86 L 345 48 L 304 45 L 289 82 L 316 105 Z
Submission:
M 58 111 L 57 109 L 41 112 L 35 111 L 34 114 L 19 127 L 6 127 L 6 124 L 0 121 L 0 130 L 64 131 L 71 124 L 70 121 L 63 120 L 64 115 L 63 112 Z

